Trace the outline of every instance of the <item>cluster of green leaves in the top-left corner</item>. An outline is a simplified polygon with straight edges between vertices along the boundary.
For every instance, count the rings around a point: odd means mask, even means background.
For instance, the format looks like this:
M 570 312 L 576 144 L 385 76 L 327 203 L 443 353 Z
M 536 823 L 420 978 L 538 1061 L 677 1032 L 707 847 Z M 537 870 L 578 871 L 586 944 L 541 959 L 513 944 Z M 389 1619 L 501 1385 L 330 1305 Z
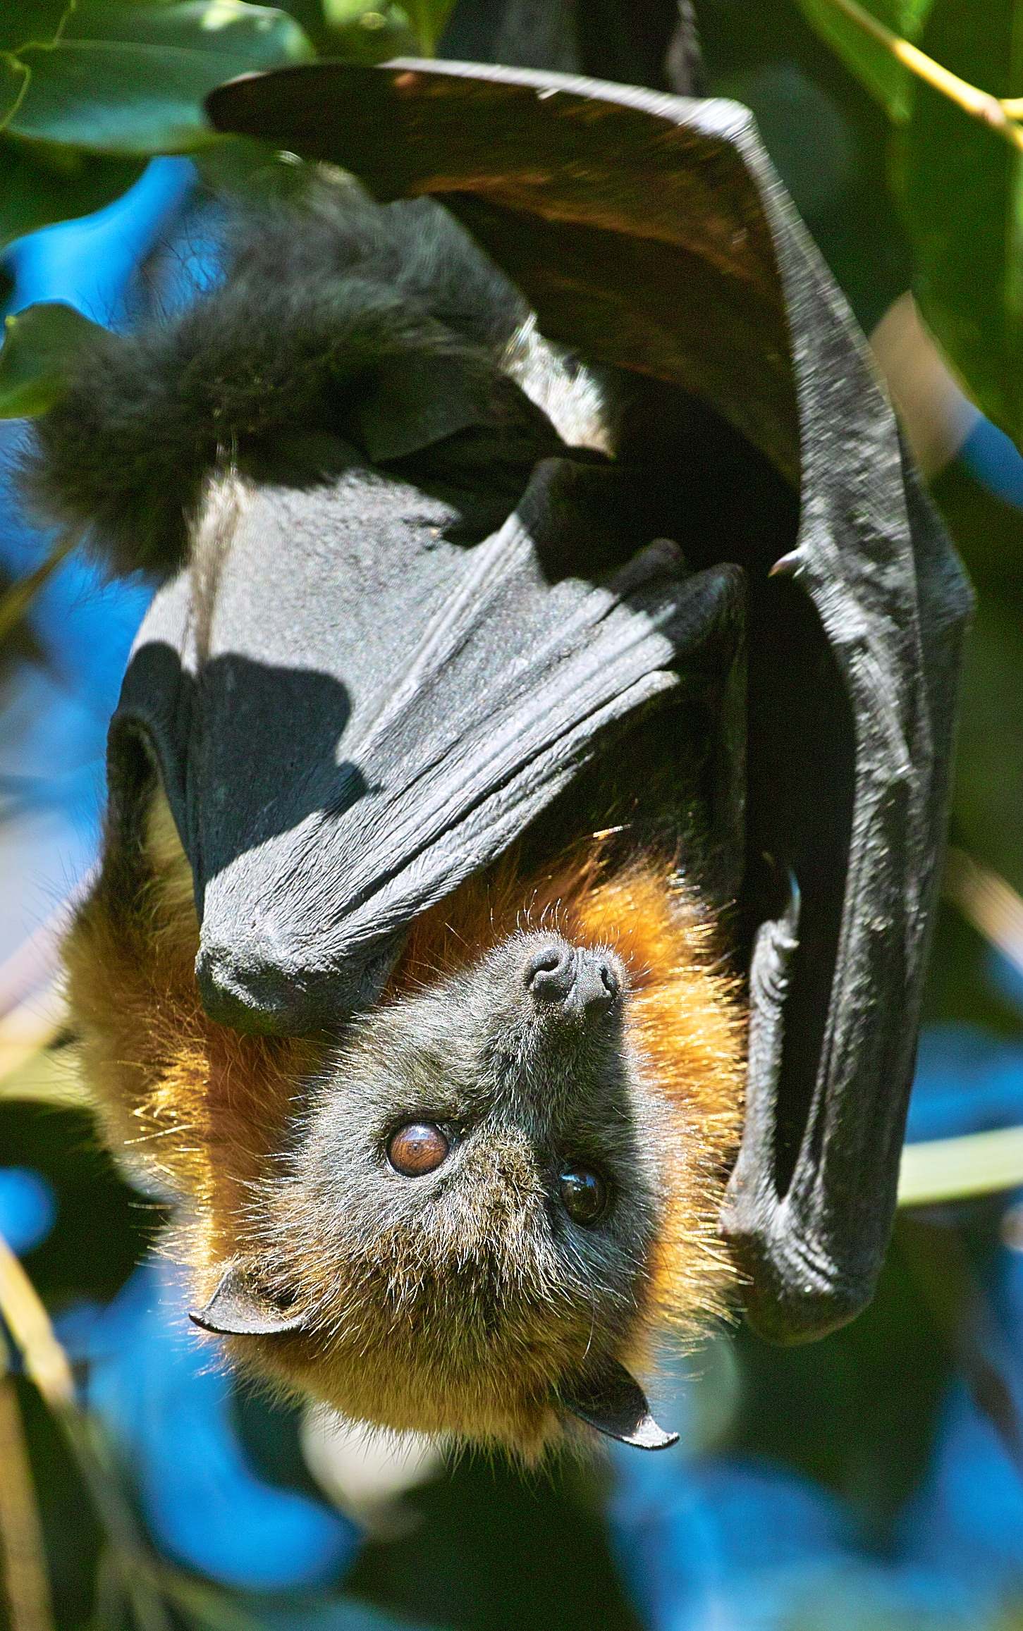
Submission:
M 359 60 L 431 55 L 452 0 L 3 0 L 0 250 L 119 197 L 153 153 L 219 139 L 202 117 L 215 85 L 323 49 Z M 315 10 L 313 10 L 315 8 Z

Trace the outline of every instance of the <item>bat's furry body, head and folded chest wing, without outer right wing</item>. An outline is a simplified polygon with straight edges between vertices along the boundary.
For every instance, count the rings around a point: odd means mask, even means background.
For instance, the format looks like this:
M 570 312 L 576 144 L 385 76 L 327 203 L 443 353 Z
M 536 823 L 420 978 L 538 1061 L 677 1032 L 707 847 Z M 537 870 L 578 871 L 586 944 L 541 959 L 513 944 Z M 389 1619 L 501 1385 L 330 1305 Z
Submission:
M 671 1442 L 630 1367 L 737 1282 L 734 579 L 658 541 L 607 398 L 444 212 L 326 188 L 194 313 L 111 336 L 29 471 L 119 569 L 168 574 L 65 962 L 196 1321 L 351 1417 L 525 1456 L 571 1416 Z M 462 807 L 493 811 L 486 850 L 460 835 L 427 887 L 423 830 Z

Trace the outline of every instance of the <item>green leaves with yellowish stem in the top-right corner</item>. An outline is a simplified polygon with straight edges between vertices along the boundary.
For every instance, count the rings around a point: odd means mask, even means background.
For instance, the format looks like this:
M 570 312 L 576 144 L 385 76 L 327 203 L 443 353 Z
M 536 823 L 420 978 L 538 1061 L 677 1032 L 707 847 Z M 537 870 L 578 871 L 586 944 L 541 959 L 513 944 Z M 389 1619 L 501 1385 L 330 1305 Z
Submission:
M 799 3 L 892 121 L 925 321 L 974 401 L 1023 442 L 1023 5 Z

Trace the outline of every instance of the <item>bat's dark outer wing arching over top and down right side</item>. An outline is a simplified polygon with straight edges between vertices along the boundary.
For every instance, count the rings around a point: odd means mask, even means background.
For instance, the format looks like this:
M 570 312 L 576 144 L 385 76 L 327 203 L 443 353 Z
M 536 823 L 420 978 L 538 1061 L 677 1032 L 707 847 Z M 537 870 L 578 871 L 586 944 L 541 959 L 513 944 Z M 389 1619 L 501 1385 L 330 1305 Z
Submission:
M 636 435 L 661 426 L 680 481 L 700 457 L 723 484 L 755 463 L 718 429 L 693 445 L 698 400 L 798 494 L 783 559 L 752 481 L 729 538 L 751 592 L 752 1029 L 724 1228 L 754 1324 L 824 1334 L 870 1300 L 891 1230 L 969 613 L 842 295 L 731 103 L 396 62 L 256 75 L 209 109 L 380 197 L 441 197 L 545 334 L 636 375 Z

